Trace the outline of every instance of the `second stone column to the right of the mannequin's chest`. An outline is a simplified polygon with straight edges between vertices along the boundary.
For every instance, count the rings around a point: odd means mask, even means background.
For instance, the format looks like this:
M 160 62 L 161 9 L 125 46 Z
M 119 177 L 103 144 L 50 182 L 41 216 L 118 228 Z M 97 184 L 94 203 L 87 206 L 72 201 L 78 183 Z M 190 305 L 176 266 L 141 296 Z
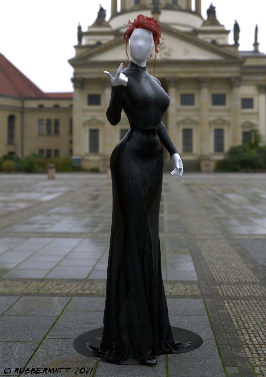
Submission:
M 210 77 L 199 77 L 199 132 L 200 132 L 200 159 L 205 159 L 210 155 L 211 152 L 211 140 L 210 140 L 210 129 L 209 129 L 209 106 L 210 106 L 210 96 L 209 96 L 209 86 Z

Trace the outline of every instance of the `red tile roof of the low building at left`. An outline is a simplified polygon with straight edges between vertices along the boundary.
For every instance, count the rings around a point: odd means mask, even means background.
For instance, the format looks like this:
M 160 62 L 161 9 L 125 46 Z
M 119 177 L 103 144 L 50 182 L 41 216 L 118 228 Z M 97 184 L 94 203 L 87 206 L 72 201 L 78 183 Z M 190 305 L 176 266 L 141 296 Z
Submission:
M 22 98 L 72 98 L 73 93 L 44 93 L 0 53 L 0 95 Z

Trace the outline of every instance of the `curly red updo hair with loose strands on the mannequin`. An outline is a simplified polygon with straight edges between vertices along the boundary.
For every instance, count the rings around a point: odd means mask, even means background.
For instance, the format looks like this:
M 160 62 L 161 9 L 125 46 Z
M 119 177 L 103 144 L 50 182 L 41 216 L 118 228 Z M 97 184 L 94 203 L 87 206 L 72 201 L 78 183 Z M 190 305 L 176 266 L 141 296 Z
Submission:
M 129 62 L 129 56 L 128 56 L 128 41 L 129 41 L 129 38 L 133 32 L 133 30 L 136 28 L 143 28 L 143 29 L 147 29 L 149 30 L 150 32 L 152 32 L 152 35 L 154 37 L 154 49 L 155 49 L 155 58 L 154 58 L 154 71 L 155 71 L 155 60 L 156 60 L 156 56 L 157 56 L 157 53 L 159 52 L 158 51 L 158 48 L 161 46 L 161 43 L 160 43 L 160 38 L 163 39 L 161 37 L 161 32 L 162 30 L 159 29 L 159 25 L 158 22 L 154 19 L 154 17 L 147 17 L 147 16 L 144 16 L 143 14 L 139 14 L 137 16 L 137 18 L 134 19 L 133 22 L 131 22 L 130 20 L 128 20 L 128 24 L 125 25 L 125 26 L 128 26 L 129 24 L 131 24 L 128 29 L 126 29 L 125 31 L 125 34 L 124 34 L 124 43 L 126 43 L 126 57 L 127 57 L 127 64 Z M 149 58 L 152 57 L 152 54 L 150 54 Z M 149 59 L 148 58 L 148 59 Z

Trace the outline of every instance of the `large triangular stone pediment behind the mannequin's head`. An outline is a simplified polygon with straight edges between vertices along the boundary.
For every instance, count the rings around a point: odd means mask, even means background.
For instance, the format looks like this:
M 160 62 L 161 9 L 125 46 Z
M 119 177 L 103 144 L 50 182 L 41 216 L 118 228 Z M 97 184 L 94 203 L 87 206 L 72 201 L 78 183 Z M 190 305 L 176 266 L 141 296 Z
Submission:
M 242 59 L 232 53 L 225 51 L 219 45 L 207 43 L 198 37 L 188 35 L 185 32 L 163 25 L 163 38 L 158 60 L 225 60 L 231 59 L 242 61 Z M 100 61 L 125 61 L 125 43 L 123 35 L 118 35 L 114 40 L 104 43 L 88 51 L 83 52 L 77 57 L 70 59 L 70 64 L 89 63 Z

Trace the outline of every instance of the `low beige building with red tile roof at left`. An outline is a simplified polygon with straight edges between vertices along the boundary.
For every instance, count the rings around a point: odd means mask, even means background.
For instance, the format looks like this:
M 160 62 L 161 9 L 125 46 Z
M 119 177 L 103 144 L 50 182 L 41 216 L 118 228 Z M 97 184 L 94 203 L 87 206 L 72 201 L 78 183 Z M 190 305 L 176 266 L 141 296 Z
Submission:
M 0 54 L 0 157 L 71 156 L 73 93 L 44 93 Z

